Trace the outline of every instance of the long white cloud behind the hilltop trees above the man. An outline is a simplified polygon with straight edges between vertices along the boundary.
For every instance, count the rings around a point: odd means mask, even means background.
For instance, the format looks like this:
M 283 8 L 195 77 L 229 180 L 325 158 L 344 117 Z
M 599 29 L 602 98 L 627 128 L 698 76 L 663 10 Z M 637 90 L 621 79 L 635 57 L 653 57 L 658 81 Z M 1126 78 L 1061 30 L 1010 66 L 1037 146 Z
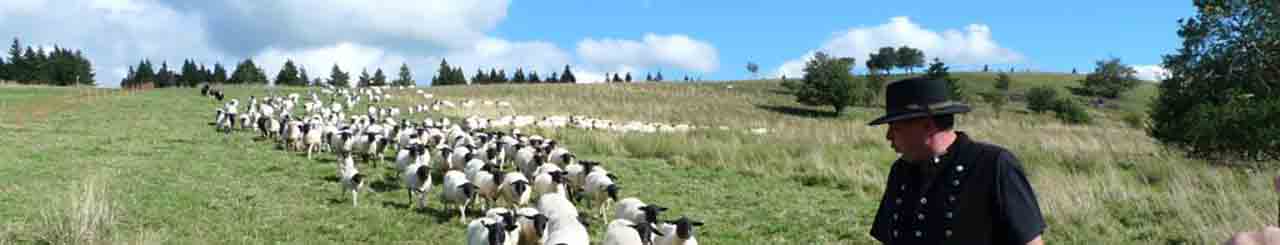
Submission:
M 991 27 L 969 24 L 964 31 L 945 30 L 936 32 L 911 22 L 908 17 L 890 18 L 888 23 L 876 27 L 855 27 L 838 32 L 817 50 L 804 56 L 787 60 L 778 67 L 774 76 L 799 77 L 804 74 L 804 62 L 815 51 L 835 56 L 854 56 L 861 64 L 883 46 L 911 46 L 924 51 L 927 59 L 938 58 L 948 64 L 1009 64 L 1021 62 L 1021 54 L 1001 47 L 991 38 Z

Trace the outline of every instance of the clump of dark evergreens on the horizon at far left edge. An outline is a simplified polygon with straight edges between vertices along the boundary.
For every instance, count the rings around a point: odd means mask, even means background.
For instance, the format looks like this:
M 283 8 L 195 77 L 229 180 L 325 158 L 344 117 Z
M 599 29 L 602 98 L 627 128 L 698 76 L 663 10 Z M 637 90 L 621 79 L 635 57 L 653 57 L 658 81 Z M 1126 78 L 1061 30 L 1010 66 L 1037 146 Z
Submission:
M 93 86 L 93 65 L 81 50 L 52 50 L 22 46 L 17 37 L 9 46 L 9 56 L 0 58 L 0 80 L 23 85 Z

